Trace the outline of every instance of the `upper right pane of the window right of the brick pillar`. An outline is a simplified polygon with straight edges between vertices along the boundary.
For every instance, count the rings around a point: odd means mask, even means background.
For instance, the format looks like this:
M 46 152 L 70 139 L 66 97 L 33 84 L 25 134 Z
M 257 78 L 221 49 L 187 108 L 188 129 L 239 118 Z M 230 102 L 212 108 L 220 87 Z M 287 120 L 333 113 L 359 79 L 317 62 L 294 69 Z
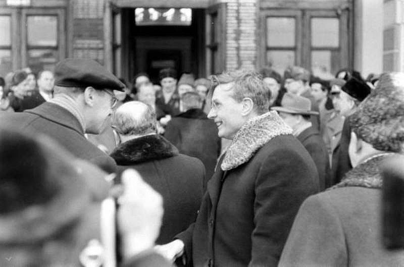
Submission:
M 339 20 L 337 18 L 312 19 L 312 46 L 339 46 Z

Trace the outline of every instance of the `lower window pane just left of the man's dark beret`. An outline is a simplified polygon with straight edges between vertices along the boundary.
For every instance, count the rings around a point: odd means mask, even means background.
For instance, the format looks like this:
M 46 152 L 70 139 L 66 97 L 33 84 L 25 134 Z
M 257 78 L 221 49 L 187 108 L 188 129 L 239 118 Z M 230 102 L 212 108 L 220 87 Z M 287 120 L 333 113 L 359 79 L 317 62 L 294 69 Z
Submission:
M 30 49 L 28 50 L 28 66 L 34 73 L 41 70 L 54 71 L 59 61 L 58 50 L 56 49 Z

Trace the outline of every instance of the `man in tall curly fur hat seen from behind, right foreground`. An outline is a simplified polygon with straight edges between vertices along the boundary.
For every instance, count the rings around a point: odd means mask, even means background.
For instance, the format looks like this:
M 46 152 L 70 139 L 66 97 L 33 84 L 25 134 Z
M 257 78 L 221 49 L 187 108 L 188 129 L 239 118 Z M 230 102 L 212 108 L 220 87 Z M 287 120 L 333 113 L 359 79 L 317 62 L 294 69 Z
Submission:
M 300 207 L 279 266 L 400 266 L 382 242 L 380 166 L 403 153 L 404 73 L 387 73 L 349 118 L 354 169 Z

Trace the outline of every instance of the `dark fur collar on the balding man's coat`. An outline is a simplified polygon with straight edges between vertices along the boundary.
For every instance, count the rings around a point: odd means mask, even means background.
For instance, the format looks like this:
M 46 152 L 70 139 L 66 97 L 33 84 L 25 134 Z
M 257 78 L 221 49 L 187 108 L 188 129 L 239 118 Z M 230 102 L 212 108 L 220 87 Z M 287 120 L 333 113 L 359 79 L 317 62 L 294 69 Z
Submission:
M 174 155 L 178 155 L 178 149 L 158 134 L 126 141 L 111 153 L 118 165 L 132 165 Z

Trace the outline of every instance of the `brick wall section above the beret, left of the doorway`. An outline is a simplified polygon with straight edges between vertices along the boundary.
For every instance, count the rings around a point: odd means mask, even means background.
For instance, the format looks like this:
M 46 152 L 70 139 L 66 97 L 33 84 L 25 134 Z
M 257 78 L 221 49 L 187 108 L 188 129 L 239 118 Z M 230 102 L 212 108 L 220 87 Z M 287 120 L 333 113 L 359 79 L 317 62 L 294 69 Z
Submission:
M 73 57 L 104 64 L 104 1 L 73 0 Z

